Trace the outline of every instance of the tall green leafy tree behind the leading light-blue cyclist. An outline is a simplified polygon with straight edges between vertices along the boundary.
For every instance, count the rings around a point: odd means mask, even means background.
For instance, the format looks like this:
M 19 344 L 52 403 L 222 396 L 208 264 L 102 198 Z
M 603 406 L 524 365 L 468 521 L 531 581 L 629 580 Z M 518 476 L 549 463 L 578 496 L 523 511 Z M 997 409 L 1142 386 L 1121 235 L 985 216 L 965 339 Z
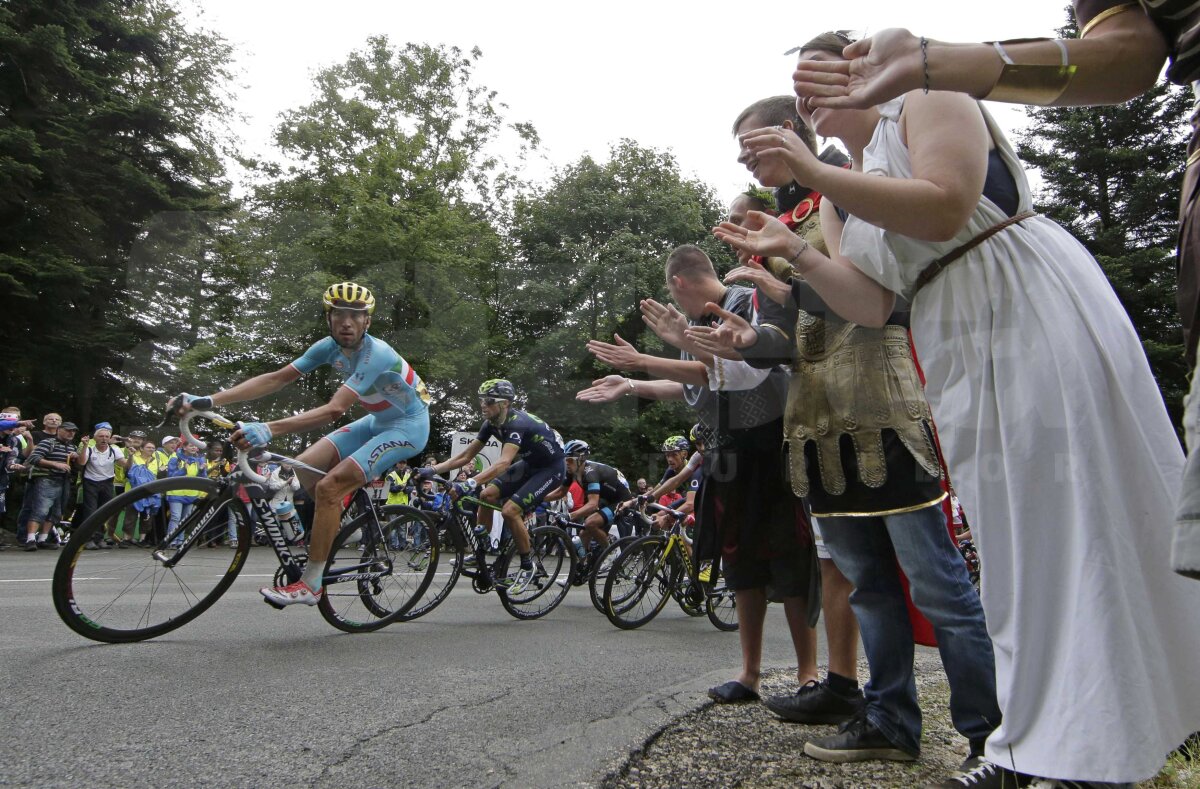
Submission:
M 474 78 L 480 58 L 379 36 L 317 74 L 313 101 L 276 132 L 289 164 L 258 164 L 260 183 L 221 255 L 227 275 L 252 272 L 253 283 L 232 323 L 212 323 L 181 357 L 185 377 L 228 386 L 286 365 L 328 331 L 322 290 L 354 279 L 377 296 L 371 333 L 428 385 L 432 444 L 462 423 L 503 335 L 500 229 L 520 183 L 497 151 L 511 141 L 523 156 L 538 141 Z M 252 408 L 262 417 L 312 408 L 338 384 L 324 371 Z

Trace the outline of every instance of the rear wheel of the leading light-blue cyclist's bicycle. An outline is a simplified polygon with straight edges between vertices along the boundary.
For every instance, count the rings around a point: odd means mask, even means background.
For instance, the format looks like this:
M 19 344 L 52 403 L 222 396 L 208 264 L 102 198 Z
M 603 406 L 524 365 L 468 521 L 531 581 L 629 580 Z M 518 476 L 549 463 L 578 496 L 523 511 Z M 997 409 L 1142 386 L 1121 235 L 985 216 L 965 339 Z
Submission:
M 415 510 L 386 525 L 373 514 L 343 525 L 325 561 L 325 592 L 318 604 L 325 621 L 347 633 L 365 633 L 413 608 L 437 571 L 438 544 L 426 541 L 416 549 L 403 540 L 427 525 Z

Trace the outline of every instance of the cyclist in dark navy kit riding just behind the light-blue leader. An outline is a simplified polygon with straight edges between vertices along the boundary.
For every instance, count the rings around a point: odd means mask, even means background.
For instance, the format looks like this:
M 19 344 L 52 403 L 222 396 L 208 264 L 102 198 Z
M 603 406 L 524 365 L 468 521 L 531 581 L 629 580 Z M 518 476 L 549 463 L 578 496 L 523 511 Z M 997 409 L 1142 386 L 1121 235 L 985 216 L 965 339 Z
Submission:
M 521 556 L 521 567 L 511 578 L 510 590 L 520 594 L 533 580 L 534 572 L 524 518 L 544 500 L 552 498 L 550 494 L 559 494 L 566 480 L 566 466 L 554 430 L 533 414 L 512 408 L 516 390 L 509 381 L 498 378 L 484 381 L 479 387 L 479 406 L 484 414 L 479 435 L 458 454 L 426 466 L 419 474 L 422 477 L 444 475 L 475 459 L 490 439 L 500 442 L 500 458 L 473 478 L 456 482 L 451 495 L 460 496 L 482 488 L 479 498 L 484 501 L 496 505 L 504 501 L 500 513 L 512 531 Z M 491 528 L 491 510 L 480 507 L 480 525 Z

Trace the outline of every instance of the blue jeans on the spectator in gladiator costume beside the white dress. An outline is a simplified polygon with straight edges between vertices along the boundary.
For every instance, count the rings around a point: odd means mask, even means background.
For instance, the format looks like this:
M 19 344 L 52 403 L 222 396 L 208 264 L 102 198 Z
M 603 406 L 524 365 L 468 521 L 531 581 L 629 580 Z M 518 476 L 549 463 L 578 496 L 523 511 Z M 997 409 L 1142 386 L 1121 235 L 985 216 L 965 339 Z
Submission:
M 821 534 L 838 570 L 854 591 L 871 680 L 863 688 L 866 717 L 893 745 L 920 749 L 920 706 L 913 679 L 912 622 L 896 561 L 908 577 L 912 602 L 934 626 L 950 683 L 950 718 L 972 745 L 1000 724 L 996 662 L 983 606 L 962 554 L 937 505 L 882 517 L 820 518 Z

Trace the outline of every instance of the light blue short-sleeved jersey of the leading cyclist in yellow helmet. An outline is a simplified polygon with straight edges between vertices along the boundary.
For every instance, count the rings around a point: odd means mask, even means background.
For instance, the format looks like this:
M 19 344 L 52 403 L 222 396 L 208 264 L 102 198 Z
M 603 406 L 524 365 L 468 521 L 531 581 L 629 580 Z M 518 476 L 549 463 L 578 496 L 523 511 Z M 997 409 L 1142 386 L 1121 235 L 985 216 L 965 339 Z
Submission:
M 325 337 L 292 362 L 304 375 L 322 365 L 332 366 L 376 418 L 415 416 L 428 410 L 430 393 L 421 377 L 391 345 L 371 335 L 362 336 L 362 344 L 350 356 L 342 353 L 336 339 Z

